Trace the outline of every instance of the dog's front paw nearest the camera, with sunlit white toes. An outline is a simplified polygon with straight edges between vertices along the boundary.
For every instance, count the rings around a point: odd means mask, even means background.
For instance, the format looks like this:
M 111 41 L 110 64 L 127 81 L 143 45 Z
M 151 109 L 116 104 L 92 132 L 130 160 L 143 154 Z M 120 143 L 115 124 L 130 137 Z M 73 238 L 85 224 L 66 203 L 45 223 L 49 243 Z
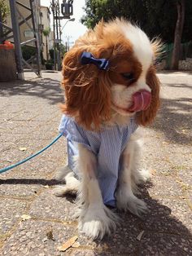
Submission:
M 103 207 L 90 207 L 85 215 L 80 217 L 79 230 L 92 239 L 103 239 L 104 235 L 110 235 L 116 229 L 119 218 L 111 210 Z

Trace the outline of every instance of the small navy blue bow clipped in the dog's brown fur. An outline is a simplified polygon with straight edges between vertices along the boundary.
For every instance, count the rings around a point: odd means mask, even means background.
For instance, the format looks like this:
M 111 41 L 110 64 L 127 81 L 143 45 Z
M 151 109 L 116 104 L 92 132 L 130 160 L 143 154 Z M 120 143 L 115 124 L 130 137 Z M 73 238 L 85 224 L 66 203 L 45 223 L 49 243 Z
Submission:
M 97 59 L 87 51 L 84 51 L 81 55 L 81 64 L 94 64 L 99 69 L 107 70 L 109 68 L 109 61 L 107 59 Z

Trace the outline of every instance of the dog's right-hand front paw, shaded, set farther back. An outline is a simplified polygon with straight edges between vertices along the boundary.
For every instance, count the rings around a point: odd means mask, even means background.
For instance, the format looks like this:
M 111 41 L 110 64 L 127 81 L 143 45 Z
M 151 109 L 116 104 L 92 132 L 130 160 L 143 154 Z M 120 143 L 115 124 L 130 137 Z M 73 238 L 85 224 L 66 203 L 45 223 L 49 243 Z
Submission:
M 132 214 L 139 217 L 148 211 L 146 203 L 137 198 L 137 196 L 134 196 L 127 188 L 119 188 L 116 193 L 116 205 L 118 209 L 124 211 L 129 210 Z

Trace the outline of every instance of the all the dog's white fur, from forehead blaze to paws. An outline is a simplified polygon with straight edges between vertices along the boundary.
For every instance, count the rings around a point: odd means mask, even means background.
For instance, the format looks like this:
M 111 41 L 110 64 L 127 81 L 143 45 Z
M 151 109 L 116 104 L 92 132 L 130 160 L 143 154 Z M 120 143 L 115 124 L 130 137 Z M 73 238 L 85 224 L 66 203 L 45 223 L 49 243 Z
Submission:
M 120 22 L 120 21 L 118 21 Z M 118 123 L 128 125 L 128 109 L 133 104 L 133 94 L 138 90 L 151 91 L 146 85 L 146 72 L 150 67 L 153 58 L 151 43 L 141 29 L 131 24 L 120 23 L 126 38 L 133 44 L 134 55 L 142 64 L 142 74 L 134 86 L 113 85 L 111 86 L 112 107 L 111 121 L 109 125 Z M 124 108 L 124 109 L 122 109 Z M 109 145 L 110 146 L 110 145 Z M 91 238 L 103 238 L 116 228 L 119 218 L 103 204 L 102 193 L 97 179 L 97 159 L 93 152 L 90 152 L 83 145 L 78 144 L 79 158 L 76 168 L 81 174 L 81 182 L 71 172 L 65 176 L 66 185 L 63 188 L 56 188 L 55 194 L 61 196 L 67 192 L 77 192 L 76 217 L 79 219 L 79 230 Z M 134 134 L 131 136 L 124 152 L 122 153 L 123 167 L 120 170 L 120 178 L 116 189 L 116 203 L 120 210 L 129 210 L 140 216 L 146 212 L 146 204 L 137 198 L 137 184 L 145 182 L 149 178 L 146 170 L 139 167 L 141 144 Z M 62 174 L 58 175 L 62 178 Z M 62 178 L 63 179 L 63 178 Z

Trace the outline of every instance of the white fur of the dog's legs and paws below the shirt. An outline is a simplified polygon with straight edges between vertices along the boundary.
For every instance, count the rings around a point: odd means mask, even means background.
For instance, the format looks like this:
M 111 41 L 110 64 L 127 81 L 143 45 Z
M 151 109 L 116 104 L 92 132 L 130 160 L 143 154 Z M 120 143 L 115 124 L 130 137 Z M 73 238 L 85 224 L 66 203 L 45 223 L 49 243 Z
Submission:
M 122 153 L 123 169 L 120 170 L 119 184 L 116 192 L 117 207 L 129 210 L 140 216 L 147 210 L 146 204 L 135 196 L 137 184 L 150 178 L 146 170 L 140 170 L 139 160 L 141 142 L 136 132 Z M 79 220 L 79 230 L 92 239 L 102 239 L 105 234 L 111 234 L 116 229 L 120 218 L 103 204 L 101 190 L 96 178 L 97 161 L 93 152 L 78 144 L 79 159 L 77 168 L 81 172 L 81 182 L 69 172 L 65 176 L 66 185 L 55 188 L 56 196 L 78 192 L 74 217 Z M 66 167 L 65 167 L 66 169 Z

